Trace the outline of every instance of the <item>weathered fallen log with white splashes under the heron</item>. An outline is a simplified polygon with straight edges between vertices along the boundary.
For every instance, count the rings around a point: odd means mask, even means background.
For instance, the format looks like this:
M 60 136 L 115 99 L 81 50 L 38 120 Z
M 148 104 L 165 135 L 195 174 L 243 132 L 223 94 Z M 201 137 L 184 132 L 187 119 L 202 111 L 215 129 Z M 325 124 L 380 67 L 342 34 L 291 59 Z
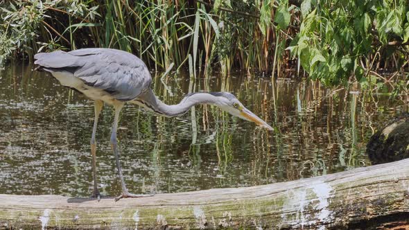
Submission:
M 293 182 L 101 202 L 0 195 L 0 228 L 368 229 L 408 224 L 409 159 Z

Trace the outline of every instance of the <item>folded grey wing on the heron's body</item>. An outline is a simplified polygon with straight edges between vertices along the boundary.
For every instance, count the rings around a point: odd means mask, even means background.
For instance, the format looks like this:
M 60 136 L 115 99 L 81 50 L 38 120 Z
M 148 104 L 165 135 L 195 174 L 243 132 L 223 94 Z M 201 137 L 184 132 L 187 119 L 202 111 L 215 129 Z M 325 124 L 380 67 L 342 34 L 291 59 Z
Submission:
M 78 57 L 74 76 L 103 89 L 117 100 L 132 100 L 152 82 L 146 65 L 135 55 L 108 48 L 84 48 L 69 52 Z

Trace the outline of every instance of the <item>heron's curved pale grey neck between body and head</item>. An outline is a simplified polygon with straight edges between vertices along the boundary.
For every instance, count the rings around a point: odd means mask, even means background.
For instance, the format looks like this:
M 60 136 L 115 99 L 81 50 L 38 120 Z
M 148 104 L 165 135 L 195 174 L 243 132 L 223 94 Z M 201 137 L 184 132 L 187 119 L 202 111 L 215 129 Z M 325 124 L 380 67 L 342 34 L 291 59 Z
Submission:
M 180 116 L 198 104 L 218 105 L 217 97 L 208 93 L 193 93 L 185 96 L 177 105 L 166 105 L 153 94 L 151 89 L 135 98 L 136 103 L 163 116 Z

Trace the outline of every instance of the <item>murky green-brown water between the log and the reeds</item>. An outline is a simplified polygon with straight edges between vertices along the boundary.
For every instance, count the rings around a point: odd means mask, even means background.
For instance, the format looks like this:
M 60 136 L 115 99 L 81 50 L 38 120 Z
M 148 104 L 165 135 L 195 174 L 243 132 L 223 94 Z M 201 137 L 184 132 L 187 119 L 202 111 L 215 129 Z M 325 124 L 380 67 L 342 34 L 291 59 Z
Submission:
M 118 136 L 125 180 L 134 193 L 252 186 L 367 166 L 365 145 L 373 130 L 408 109 L 388 96 L 330 90 L 309 81 L 272 84 L 241 74 L 184 79 L 155 78 L 155 92 L 166 103 L 177 103 L 189 88 L 231 91 L 276 131 L 210 106 L 163 118 L 127 105 Z M 90 195 L 93 106 L 31 67 L 1 71 L 0 193 Z M 111 107 L 99 121 L 98 183 L 104 195 L 118 195 Z

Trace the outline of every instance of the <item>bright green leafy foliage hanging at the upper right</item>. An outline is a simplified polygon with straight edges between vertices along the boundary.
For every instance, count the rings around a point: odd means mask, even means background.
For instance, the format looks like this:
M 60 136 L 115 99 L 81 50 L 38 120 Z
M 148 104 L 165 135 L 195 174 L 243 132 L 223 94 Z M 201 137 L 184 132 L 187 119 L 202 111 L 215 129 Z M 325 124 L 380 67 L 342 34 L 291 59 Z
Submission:
M 313 78 L 331 84 L 351 74 L 365 81 L 369 71 L 398 70 L 408 64 L 408 3 L 303 1 L 302 24 L 288 49 Z

